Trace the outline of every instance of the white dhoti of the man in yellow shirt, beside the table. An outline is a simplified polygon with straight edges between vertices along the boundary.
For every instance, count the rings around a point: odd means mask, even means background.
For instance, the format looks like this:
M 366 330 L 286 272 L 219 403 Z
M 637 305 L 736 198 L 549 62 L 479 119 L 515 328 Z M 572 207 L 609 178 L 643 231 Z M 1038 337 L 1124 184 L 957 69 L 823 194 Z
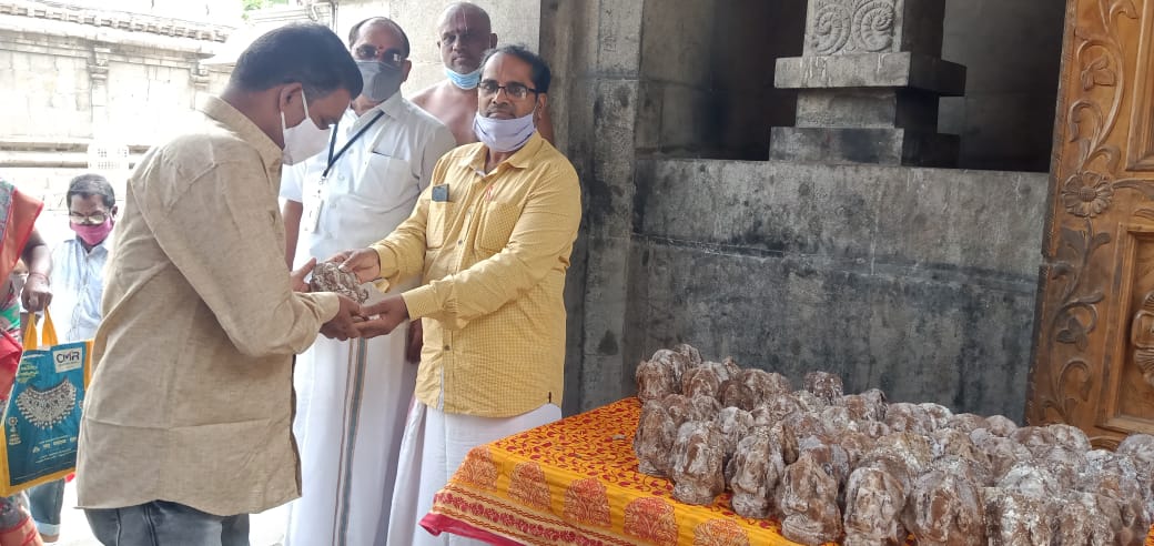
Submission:
M 433 508 L 433 495 L 449 483 L 469 450 L 557 419 L 561 419 L 561 407 L 554 404 L 500 419 L 444 413 L 420 402 L 413 404 L 400 442 L 400 472 L 392 494 L 389 545 L 485 544 L 448 533 L 434 537 L 419 522 Z

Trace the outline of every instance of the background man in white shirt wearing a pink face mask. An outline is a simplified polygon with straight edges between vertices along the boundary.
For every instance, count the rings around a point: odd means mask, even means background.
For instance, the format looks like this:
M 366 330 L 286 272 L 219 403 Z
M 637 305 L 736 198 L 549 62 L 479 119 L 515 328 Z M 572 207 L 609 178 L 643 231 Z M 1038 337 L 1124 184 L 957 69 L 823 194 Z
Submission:
M 53 298 L 48 304 L 60 343 L 96 337 L 104 294 L 104 264 L 108 261 L 108 233 L 117 217 L 117 196 L 99 174 L 81 174 L 68 184 L 68 225 L 74 235 L 52 250 L 50 274 Z M 36 528 L 46 543 L 60 536 L 60 510 L 65 480 L 32 487 L 29 506 Z

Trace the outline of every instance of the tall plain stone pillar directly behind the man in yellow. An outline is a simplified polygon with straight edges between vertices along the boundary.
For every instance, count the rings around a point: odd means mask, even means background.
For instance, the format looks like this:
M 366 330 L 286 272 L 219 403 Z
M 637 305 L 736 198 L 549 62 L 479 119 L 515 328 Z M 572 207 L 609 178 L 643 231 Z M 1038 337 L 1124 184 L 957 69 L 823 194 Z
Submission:
M 688 0 L 687 0 L 688 1 Z M 549 114 L 583 192 L 582 231 L 565 281 L 569 311 L 564 411 L 628 396 L 643 346 L 632 338 L 634 170 L 642 104 L 646 2 L 541 2 L 541 52 L 549 59 Z M 562 136 L 563 135 L 563 136 Z

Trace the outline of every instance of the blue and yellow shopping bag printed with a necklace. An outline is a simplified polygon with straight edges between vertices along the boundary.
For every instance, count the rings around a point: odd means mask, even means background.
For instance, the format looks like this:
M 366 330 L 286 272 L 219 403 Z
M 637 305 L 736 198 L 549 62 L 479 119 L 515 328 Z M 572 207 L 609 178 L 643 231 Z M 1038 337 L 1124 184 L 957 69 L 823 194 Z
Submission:
M 44 313 L 24 330 L 24 353 L 13 382 L 0 446 L 0 494 L 58 480 L 76 469 L 80 414 L 88 388 L 91 342 L 60 344 Z

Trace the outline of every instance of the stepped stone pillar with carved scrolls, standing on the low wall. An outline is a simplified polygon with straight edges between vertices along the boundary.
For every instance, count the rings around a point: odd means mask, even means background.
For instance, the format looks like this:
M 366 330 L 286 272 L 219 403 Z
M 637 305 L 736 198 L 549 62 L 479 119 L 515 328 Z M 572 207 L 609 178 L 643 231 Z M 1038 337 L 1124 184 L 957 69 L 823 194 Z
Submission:
M 958 137 L 937 133 L 938 97 L 966 68 L 942 60 L 945 0 L 809 0 L 802 57 L 778 59 L 797 89 L 796 127 L 774 127 L 770 158 L 952 166 Z

